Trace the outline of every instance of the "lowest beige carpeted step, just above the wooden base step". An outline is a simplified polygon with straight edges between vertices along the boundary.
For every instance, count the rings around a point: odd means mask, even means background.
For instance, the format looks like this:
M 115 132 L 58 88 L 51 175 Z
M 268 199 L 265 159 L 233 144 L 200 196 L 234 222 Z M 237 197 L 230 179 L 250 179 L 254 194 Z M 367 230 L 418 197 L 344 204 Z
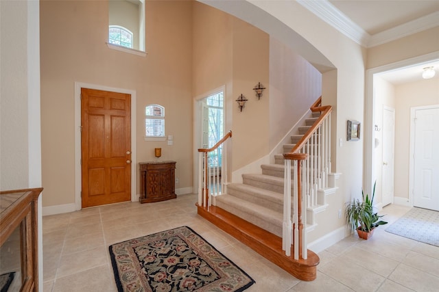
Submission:
M 227 194 L 217 197 L 216 206 L 268 230 L 274 235 L 282 235 L 282 213 Z

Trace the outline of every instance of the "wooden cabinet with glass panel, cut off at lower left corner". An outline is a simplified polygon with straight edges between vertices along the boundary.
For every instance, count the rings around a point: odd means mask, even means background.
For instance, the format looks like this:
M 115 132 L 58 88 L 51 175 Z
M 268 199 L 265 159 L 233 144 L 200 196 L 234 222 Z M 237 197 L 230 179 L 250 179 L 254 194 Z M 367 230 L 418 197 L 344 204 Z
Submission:
M 0 274 L 10 275 L 9 291 L 38 291 L 37 200 L 41 191 L 0 191 Z

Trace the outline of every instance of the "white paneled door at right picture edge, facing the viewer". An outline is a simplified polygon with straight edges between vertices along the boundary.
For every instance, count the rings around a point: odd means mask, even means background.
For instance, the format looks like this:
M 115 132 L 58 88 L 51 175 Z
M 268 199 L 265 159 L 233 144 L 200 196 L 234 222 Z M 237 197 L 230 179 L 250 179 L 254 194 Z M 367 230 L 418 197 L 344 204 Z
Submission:
M 414 206 L 439 211 L 439 105 L 414 110 Z

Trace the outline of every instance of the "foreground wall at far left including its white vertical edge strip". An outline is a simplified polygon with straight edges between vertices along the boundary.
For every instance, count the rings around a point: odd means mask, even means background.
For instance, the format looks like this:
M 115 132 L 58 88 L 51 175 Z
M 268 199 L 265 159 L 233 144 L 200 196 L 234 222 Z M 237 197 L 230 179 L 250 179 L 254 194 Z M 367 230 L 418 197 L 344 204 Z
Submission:
M 39 1 L 0 1 L 0 190 L 41 187 Z M 42 196 L 38 246 L 43 246 Z M 38 248 L 43 291 L 43 248 Z

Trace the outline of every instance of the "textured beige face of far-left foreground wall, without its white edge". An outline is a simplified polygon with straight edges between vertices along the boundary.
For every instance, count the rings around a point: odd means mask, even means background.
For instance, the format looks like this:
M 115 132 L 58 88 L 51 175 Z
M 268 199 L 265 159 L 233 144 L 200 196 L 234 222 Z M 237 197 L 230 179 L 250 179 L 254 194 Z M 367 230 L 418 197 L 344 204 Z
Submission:
M 0 1 L 0 189 L 28 186 L 27 1 Z

